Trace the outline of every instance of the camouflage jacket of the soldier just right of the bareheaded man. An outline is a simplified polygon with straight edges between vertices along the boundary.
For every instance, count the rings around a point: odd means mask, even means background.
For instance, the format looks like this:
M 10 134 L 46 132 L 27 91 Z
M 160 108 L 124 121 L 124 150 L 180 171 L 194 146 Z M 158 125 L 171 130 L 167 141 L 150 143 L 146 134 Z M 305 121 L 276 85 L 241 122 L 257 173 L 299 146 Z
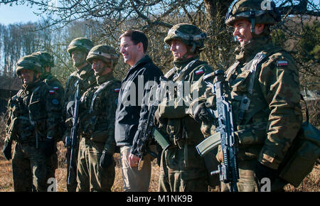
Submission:
M 198 96 L 206 91 L 203 76 L 213 72 L 208 63 L 190 58 L 183 62 L 175 62 L 175 67 L 166 73 L 165 77 L 174 83 L 183 84 L 183 96 L 174 91 L 174 98 L 164 98 L 157 109 L 159 117 L 166 119 L 167 124 L 162 125 L 172 142 L 178 139 L 188 139 L 188 143 L 195 144 L 203 139 L 200 125 L 187 112 L 189 105 Z M 188 84 L 187 87 L 185 85 Z M 186 89 L 188 88 L 188 89 Z M 170 91 L 169 91 L 170 92 Z

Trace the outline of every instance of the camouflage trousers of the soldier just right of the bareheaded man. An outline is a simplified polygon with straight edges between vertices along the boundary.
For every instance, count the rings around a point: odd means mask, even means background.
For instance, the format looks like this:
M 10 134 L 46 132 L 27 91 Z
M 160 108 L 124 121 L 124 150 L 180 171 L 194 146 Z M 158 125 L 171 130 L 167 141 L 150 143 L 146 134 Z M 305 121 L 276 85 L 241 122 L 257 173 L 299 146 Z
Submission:
M 195 145 L 161 153 L 159 192 L 206 192 L 208 173 Z

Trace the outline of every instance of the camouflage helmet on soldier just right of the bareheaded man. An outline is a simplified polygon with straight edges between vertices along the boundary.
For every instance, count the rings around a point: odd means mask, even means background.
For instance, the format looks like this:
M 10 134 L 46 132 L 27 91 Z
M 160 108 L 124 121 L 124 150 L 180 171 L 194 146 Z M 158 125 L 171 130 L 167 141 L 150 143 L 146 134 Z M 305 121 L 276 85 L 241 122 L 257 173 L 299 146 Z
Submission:
M 207 38 L 206 33 L 203 33 L 200 28 L 190 23 L 178 23 L 169 31 L 164 42 L 170 44 L 171 40 L 179 39 L 186 45 L 192 45 L 193 50 L 203 50 L 204 40 Z

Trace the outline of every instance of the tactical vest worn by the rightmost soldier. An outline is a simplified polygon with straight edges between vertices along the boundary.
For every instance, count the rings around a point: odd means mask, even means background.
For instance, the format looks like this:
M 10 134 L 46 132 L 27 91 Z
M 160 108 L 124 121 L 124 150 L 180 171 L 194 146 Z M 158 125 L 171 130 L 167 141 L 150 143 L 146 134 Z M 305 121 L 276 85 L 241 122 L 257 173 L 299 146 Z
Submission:
M 270 109 L 258 85 L 258 75 L 262 63 L 279 51 L 282 48 L 263 50 L 245 65 L 236 61 L 226 72 L 226 80 L 231 88 L 233 124 L 242 145 L 263 143 L 267 137 Z M 237 71 L 239 74 L 235 75 Z

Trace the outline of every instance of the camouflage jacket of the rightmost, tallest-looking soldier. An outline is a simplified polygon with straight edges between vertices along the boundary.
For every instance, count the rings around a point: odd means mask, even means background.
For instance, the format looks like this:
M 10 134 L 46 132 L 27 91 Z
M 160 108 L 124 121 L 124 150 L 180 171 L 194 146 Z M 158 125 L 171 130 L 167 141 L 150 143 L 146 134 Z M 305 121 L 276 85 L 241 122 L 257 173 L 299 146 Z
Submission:
M 238 158 L 257 158 L 277 169 L 302 124 L 297 65 L 291 55 L 272 44 L 269 36 L 252 40 L 237 51 L 236 62 L 225 77 L 231 88 L 234 131 L 240 143 Z M 252 67 L 257 53 L 265 58 Z M 243 97 L 250 99 L 247 109 L 242 107 Z M 210 90 L 198 101 L 215 109 Z

